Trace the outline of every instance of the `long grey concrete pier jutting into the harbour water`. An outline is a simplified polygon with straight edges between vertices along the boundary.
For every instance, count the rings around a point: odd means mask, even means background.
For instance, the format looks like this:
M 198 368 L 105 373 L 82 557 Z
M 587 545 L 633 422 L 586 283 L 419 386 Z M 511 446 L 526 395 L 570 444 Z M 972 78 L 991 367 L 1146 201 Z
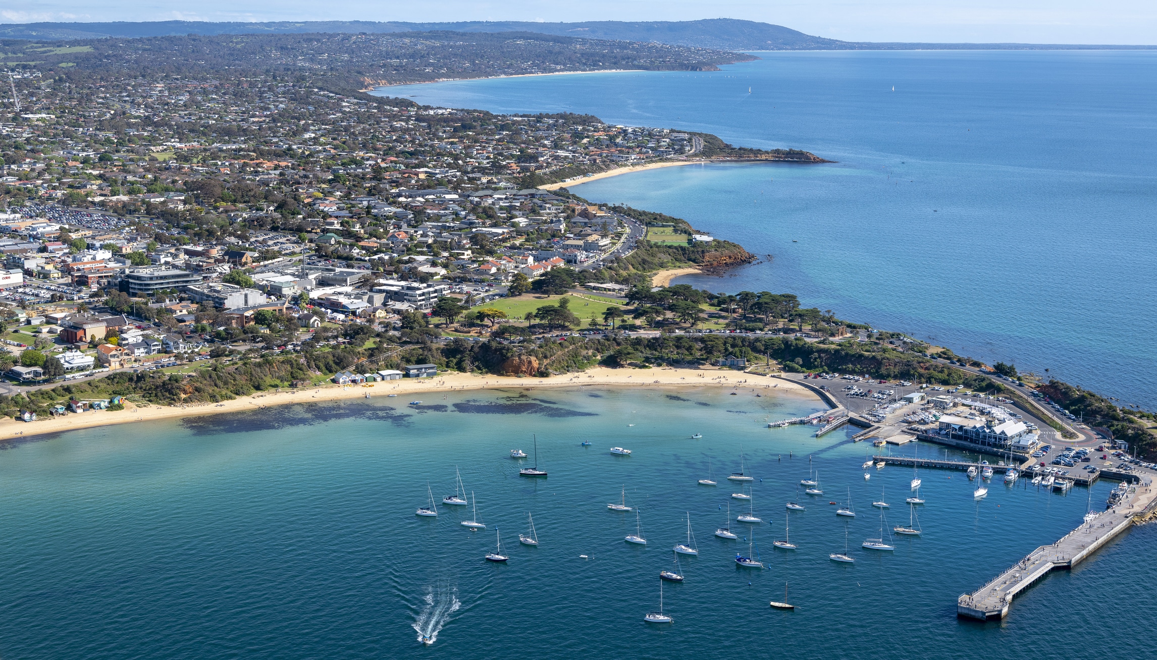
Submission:
M 1134 520 L 1152 512 L 1157 492 L 1151 476 L 1129 487 L 1129 492 L 1108 511 L 1083 522 L 1061 540 L 1029 553 L 992 581 L 957 599 L 957 616 L 980 621 L 1004 618 L 1009 607 L 1025 588 L 1056 569 L 1071 569 L 1105 543 L 1133 526 Z

